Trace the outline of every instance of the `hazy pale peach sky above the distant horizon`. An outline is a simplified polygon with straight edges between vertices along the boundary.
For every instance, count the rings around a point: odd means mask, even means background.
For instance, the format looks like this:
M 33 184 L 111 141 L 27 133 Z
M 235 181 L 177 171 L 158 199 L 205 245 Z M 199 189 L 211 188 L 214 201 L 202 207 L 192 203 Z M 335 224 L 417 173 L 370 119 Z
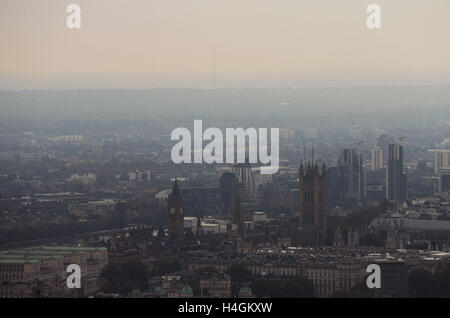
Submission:
M 209 87 L 214 51 L 218 87 L 450 83 L 450 1 L 0 0 L 0 89 Z

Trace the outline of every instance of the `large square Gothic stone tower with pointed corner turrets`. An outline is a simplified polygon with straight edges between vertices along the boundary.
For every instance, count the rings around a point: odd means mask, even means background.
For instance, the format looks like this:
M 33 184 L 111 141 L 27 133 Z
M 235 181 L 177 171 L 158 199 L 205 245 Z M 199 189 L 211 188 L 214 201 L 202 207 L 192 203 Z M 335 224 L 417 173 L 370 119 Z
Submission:
M 326 165 L 321 172 L 315 161 L 309 161 L 305 167 L 300 163 L 299 169 L 299 226 L 301 243 L 320 245 L 326 239 Z

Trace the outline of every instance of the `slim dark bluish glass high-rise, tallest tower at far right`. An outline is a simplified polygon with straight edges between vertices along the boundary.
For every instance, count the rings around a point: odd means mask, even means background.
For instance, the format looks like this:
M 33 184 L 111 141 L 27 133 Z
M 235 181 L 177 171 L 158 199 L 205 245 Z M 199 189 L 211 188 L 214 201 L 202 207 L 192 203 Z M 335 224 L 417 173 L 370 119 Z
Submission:
M 403 171 L 403 146 L 389 145 L 386 176 L 386 199 L 395 203 L 406 201 L 406 173 Z

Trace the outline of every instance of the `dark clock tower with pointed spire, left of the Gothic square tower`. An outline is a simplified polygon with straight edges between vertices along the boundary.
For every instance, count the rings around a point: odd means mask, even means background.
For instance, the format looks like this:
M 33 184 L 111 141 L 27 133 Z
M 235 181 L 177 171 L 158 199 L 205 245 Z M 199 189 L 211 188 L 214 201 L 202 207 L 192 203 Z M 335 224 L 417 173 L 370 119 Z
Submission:
M 182 238 L 184 236 L 183 199 L 177 180 L 173 183 L 172 193 L 169 195 L 167 210 L 169 213 L 169 237 Z

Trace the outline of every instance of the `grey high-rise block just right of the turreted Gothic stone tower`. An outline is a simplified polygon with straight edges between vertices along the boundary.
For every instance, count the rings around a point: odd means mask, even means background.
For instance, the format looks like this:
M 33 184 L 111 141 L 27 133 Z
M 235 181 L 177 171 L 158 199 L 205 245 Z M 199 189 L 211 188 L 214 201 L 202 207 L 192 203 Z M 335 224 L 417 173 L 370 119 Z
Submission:
M 366 187 L 362 156 L 353 148 L 342 149 L 338 167 L 341 198 L 363 202 L 366 198 Z

